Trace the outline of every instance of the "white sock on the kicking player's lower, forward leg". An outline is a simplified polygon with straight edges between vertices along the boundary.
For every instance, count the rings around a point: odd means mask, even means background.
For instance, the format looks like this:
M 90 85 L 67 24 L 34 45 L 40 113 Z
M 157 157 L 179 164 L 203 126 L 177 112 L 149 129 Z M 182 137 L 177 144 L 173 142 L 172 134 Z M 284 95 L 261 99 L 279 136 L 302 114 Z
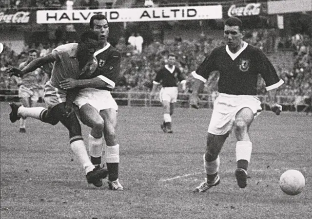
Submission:
M 83 140 L 72 142 L 70 146 L 74 154 L 78 157 L 78 160 L 82 165 L 82 167 L 84 168 L 85 173 L 87 174 L 90 171 L 92 171 L 95 168 L 95 166 L 91 163 L 89 159 Z

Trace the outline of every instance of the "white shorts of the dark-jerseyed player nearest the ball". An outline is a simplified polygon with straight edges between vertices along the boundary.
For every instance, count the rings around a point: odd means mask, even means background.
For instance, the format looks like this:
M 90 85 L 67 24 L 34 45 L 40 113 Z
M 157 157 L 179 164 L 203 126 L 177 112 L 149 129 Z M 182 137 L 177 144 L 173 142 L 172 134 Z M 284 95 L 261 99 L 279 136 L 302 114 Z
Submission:
M 208 132 L 224 135 L 232 130 L 237 112 L 243 108 L 250 108 L 257 117 L 262 108 L 261 101 L 252 95 L 230 95 L 220 93 L 215 99 Z

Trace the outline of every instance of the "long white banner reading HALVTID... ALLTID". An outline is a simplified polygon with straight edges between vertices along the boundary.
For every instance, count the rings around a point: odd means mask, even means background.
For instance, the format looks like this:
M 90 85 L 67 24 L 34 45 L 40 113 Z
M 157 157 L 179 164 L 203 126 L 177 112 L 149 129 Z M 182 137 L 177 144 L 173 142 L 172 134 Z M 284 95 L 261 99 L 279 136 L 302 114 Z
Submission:
M 94 14 L 104 14 L 109 22 L 221 19 L 222 6 L 39 10 L 37 23 L 88 23 Z

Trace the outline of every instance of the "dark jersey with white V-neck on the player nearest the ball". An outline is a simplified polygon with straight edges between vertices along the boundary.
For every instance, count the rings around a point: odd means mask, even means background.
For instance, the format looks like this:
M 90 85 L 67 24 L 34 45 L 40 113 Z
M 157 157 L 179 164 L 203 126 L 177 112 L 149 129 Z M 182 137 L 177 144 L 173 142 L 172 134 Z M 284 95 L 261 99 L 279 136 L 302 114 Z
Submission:
M 227 45 L 216 48 L 192 74 L 206 82 L 213 71 L 220 73 L 220 93 L 256 95 L 258 74 L 264 79 L 268 91 L 283 84 L 266 55 L 246 42 L 235 54 L 231 53 Z

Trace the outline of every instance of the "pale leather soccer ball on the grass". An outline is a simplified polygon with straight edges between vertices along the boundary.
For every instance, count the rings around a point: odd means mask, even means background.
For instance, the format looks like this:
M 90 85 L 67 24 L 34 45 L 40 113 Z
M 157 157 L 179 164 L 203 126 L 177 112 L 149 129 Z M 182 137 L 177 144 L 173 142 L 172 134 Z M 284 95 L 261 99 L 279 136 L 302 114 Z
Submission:
M 284 172 L 279 178 L 279 186 L 287 195 L 298 195 L 302 192 L 306 181 L 298 170 L 290 169 Z

